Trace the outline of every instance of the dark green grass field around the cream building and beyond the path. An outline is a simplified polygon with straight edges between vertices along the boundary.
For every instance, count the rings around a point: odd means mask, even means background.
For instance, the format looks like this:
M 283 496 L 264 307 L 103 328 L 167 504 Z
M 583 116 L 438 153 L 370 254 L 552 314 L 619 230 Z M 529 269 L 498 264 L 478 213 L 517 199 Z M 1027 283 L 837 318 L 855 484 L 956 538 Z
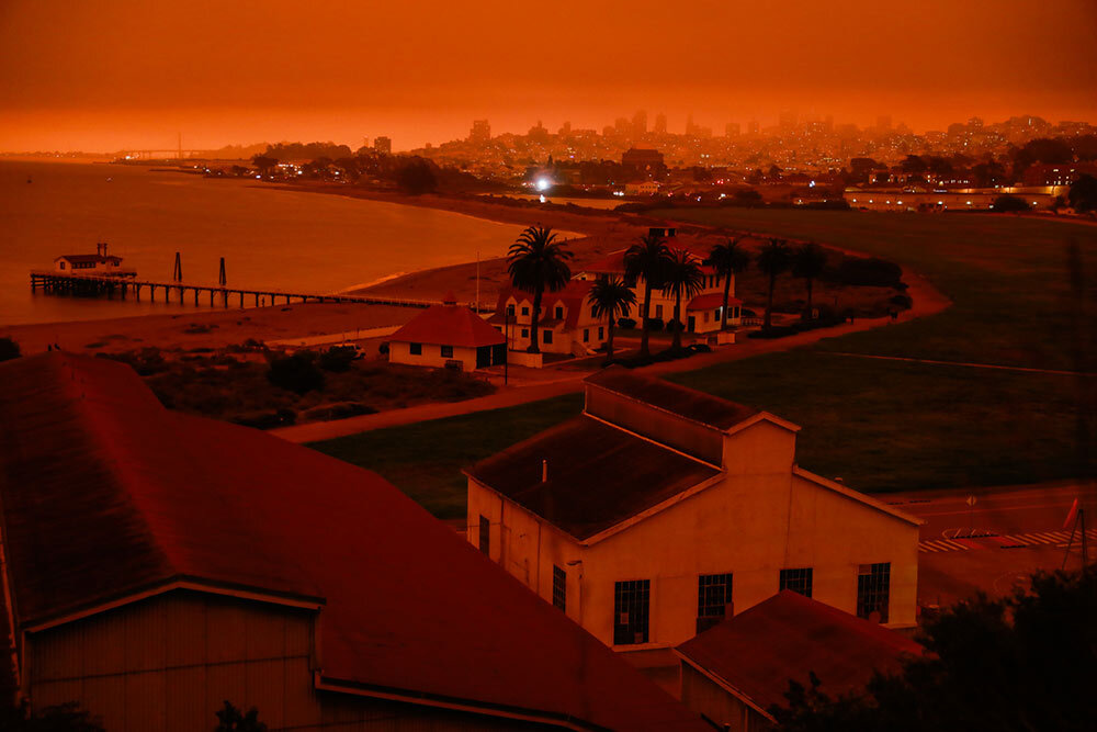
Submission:
M 1086 470 L 1092 446 L 1079 443 L 1078 425 L 1088 417 L 1092 426 L 1092 376 L 836 351 L 1097 371 L 1097 227 L 977 214 L 658 213 L 864 251 L 909 266 L 953 300 L 939 315 L 671 378 L 800 424 L 802 466 L 867 492 L 1027 483 Z M 1081 305 L 1066 264 L 1072 240 L 1089 273 Z M 376 470 L 450 517 L 463 513 L 462 466 L 579 408 L 577 397 L 552 399 L 314 447 Z

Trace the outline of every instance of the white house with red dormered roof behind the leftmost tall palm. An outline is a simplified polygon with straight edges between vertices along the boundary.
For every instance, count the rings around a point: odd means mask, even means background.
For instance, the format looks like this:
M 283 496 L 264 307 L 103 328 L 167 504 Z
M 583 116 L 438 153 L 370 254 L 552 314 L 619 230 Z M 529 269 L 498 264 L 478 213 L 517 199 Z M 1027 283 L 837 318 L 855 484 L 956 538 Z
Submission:
M 595 317 L 588 300 L 593 284 L 592 280 L 572 280 L 563 290 L 542 294 L 542 353 L 588 356 L 606 342 L 609 323 Z M 510 350 L 524 351 L 532 339 L 533 293 L 502 288 L 488 323 L 506 331 Z

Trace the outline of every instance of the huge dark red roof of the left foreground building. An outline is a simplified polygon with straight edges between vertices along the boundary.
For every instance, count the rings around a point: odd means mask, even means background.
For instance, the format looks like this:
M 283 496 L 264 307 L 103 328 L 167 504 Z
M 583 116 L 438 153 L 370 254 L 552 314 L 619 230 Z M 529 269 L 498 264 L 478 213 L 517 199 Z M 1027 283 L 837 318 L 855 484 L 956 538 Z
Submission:
M 704 729 L 378 475 L 169 412 L 121 363 L 0 363 L 0 506 L 16 631 L 180 578 L 321 597 L 325 679 Z

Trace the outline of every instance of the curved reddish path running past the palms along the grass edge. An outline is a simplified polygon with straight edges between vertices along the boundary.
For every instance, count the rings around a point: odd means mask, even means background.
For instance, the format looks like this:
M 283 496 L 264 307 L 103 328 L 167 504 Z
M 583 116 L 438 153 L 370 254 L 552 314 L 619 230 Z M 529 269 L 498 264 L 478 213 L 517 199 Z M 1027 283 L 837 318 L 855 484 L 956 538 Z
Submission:
M 903 269 L 903 281 L 907 283 L 907 294 L 911 295 L 913 306 L 900 313 L 895 320 L 891 318 L 863 318 L 853 323 L 830 328 L 819 328 L 808 330 L 784 338 L 761 339 L 748 338 L 734 346 L 717 348 L 711 353 L 701 353 L 687 359 L 667 361 L 665 363 L 653 363 L 637 369 L 641 373 L 652 375 L 676 373 L 680 371 L 695 371 L 705 367 L 739 359 L 750 358 L 760 353 L 771 353 L 776 351 L 787 351 L 801 346 L 810 346 L 824 338 L 837 338 L 850 333 L 870 330 L 872 328 L 887 327 L 893 323 L 904 323 L 917 317 L 935 315 L 940 313 L 952 302 L 935 289 L 928 280 L 909 269 Z M 305 425 L 293 425 L 291 427 L 280 427 L 270 430 L 271 435 L 281 437 L 290 442 L 318 442 L 330 440 L 337 437 L 357 435 L 385 427 L 396 427 L 409 425 L 418 421 L 454 417 L 457 415 L 484 412 L 487 409 L 499 409 L 512 407 L 529 402 L 538 402 L 564 394 L 575 394 L 583 391 L 583 380 L 591 371 L 558 371 L 559 379 L 538 381 L 523 386 L 505 387 L 495 394 L 480 396 L 464 402 L 445 402 L 441 404 L 422 404 L 407 407 L 405 409 L 391 409 L 378 412 L 372 415 L 359 417 L 348 417 L 335 421 L 317 421 Z M 546 374 L 547 375 L 547 374 Z

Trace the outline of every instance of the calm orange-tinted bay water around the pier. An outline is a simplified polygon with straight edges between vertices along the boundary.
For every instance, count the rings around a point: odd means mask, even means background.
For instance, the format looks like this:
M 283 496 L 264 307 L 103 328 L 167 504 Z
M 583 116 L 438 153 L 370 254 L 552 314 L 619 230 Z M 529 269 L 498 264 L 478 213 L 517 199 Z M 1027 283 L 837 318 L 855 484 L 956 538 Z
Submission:
M 27 182 L 27 180 L 33 182 Z M 0 160 L 0 325 L 181 308 L 32 295 L 31 269 L 108 241 L 146 279 L 333 292 L 400 272 L 506 255 L 520 226 L 338 195 L 146 168 Z M 193 301 L 191 301 L 193 302 Z M 193 305 L 182 309 L 194 309 Z

